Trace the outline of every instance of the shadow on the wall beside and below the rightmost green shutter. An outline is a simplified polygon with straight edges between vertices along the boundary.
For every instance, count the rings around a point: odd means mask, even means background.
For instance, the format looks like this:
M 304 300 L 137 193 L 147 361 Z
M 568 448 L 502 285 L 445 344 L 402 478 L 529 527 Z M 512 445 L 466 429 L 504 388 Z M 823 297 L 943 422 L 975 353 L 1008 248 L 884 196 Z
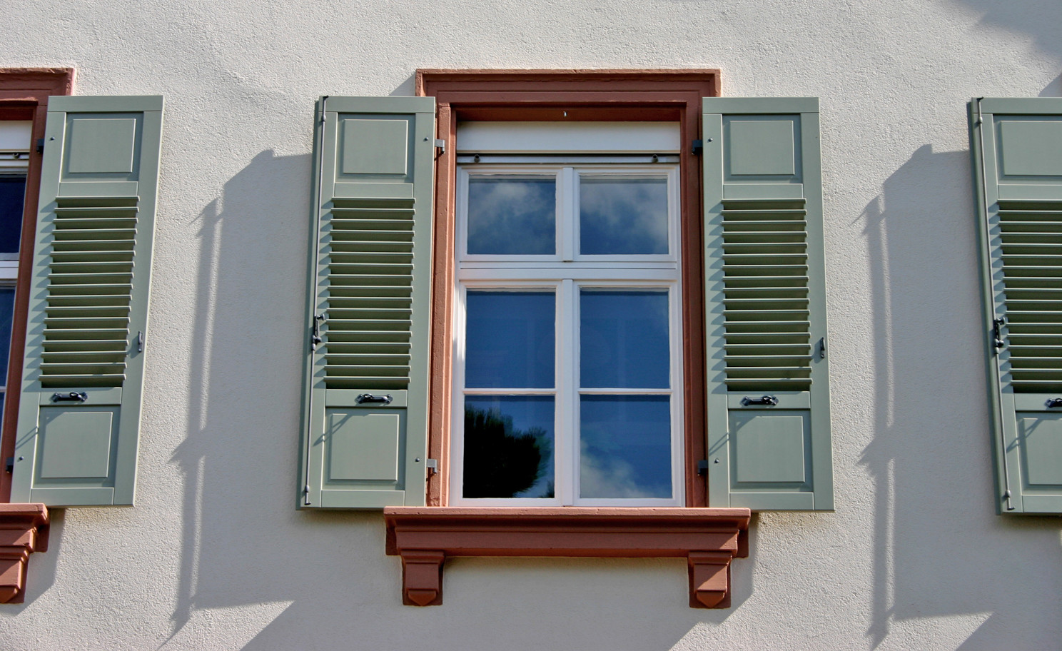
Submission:
M 875 306 L 876 435 L 861 459 L 875 482 L 875 648 L 894 623 L 928 635 L 935 618 L 963 615 L 961 649 L 1062 638 L 1059 519 L 993 510 L 969 170 L 969 152 L 922 147 L 861 216 Z

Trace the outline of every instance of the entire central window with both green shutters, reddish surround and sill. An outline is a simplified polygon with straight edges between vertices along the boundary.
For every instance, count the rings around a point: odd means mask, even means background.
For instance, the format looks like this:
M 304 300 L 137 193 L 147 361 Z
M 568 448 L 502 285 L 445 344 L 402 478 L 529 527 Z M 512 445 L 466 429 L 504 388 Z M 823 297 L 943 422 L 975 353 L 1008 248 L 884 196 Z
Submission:
M 449 555 L 629 555 L 725 607 L 750 509 L 833 509 L 818 101 L 717 81 L 427 70 L 318 102 L 298 508 L 383 508 L 405 603 L 441 603 Z M 573 154 L 615 122 L 678 124 L 676 160 Z M 519 129 L 565 144 L 469 143 Z M 600 209 L 631 193 L 637 238 Z

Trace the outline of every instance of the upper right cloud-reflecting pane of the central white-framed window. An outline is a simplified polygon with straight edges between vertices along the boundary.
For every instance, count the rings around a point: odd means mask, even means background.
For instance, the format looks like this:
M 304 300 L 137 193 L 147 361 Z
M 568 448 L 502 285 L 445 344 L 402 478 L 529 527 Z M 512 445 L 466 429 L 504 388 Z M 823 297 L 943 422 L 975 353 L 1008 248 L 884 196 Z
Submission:
M 579 249 L 585 255 L 667 253 L 667 178 L 579 181 Z

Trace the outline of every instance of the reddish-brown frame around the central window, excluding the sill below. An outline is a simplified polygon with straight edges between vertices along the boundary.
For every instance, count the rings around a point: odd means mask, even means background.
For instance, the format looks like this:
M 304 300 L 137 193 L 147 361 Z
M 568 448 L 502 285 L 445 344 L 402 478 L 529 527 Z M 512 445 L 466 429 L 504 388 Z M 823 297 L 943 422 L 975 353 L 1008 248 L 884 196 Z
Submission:
M 416 71 L 416 95 L 435 98 L 435 137 L 446 143 L 444 152 L 436 151 L 435 160 L 428 453 L 439 460 L 439 473 L 428 479 L 429 506 L 448 503 L 458 120 L 679 122 L 685 493 L 687 507 L 707 504 L 706 479 L 697 474 L 698 461 L 706 456 L 703 434 L 707 427 L 703 399 L 702 177 L 701 159 L 689 145 L 700 138 L 701 99 L 718 97 L 719 85 L 718 69 Z

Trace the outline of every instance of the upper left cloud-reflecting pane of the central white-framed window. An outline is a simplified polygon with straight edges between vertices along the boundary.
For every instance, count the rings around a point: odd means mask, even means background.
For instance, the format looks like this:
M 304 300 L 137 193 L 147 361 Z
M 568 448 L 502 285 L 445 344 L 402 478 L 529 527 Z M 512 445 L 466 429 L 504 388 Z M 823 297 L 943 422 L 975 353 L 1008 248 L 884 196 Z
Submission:
M 556 253 L 556 181 L 469 178 L 468 253 Z

